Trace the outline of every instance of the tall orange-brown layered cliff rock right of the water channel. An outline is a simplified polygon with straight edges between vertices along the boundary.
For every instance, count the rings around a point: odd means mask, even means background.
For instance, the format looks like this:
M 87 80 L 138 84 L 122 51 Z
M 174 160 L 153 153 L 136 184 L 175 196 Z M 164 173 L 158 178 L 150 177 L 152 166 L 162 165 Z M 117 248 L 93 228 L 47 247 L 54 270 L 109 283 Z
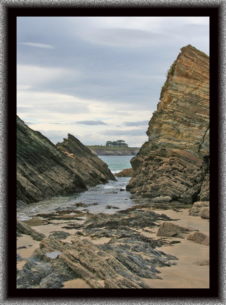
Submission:
M 209 201 L 209 56 L 191 45 L 182 48 L 160 101 L 149 140 L 131 159 L 127 190 L 155 200 Z

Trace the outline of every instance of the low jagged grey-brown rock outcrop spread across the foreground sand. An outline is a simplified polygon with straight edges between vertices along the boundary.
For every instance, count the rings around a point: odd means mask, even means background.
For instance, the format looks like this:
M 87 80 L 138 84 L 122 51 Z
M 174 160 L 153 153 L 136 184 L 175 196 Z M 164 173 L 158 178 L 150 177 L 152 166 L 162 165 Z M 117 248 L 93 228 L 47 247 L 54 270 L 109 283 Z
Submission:
M 143 278 L 161 278 L 156 267 L 170 267 L 177 260 L 156 247 L 174 241 L 155 240 L 138 230 L 159 226 L 162 220 L 171 219 L 165 214 L 134 209 L 114 215 L 100 213 L 84 224 L 68 224 L 65 228 L 82 229 L 83 233 L 54 231 L 43 239 L 18 271 L 18 288 L 62 288 L 63 282 L 76 278 L 91 288 L 151 288 Z M 110 240 L 94 244 L 86 237 Z

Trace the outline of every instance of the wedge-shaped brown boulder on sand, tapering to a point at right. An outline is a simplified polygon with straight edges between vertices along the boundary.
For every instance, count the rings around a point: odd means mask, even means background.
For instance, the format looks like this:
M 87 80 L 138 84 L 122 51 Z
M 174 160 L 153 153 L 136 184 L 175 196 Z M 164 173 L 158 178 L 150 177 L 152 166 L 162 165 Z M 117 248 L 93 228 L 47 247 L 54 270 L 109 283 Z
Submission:
M 185 227 L 185 226 L 181 226 L 178 224 L 174 224 L 170 221 L 164 221 L 156 235 L 157 236 L 167 236 L 167 237 L 177 237 L 177 238 L 184 238 L 181 233 L 187 233 L 188 231 L 198 231 L 194 228 L 190 228 L 190 227 Z

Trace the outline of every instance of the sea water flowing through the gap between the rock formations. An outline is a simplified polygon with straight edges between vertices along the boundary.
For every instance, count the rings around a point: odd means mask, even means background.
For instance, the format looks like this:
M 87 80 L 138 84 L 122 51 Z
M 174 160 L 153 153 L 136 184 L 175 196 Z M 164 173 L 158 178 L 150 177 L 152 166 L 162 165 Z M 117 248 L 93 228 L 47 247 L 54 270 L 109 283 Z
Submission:
M 99 156 L 108 164 L 112 173 L 117 173 L 124 168 L 130 168 L 130 160 L 133 156 Z M 77 207 L 76 210 L 88 210 L 89 213 L 108 213 L 113 214 L 118 210 L 125 210 L 137 201 L 130 199 L 131 194 L 125 190 L 130 178 L 117 178 L 117 181 L 109 181 L 104 185 L 88 187 L 88 191 L 79 194 L 70 194 L 67 196 L 55 196 L 37 203 L 30 203 L 17 211 L 17 218 L 20 221 L 26 221 L 35 217 L 38 213 L 52 213 L 58 209 L 73 209 L 76 203 L 90 204 L 88 207 Z M 124 189 L 124 191 L 120 191 Z M 93 205 L 95 203 L 95 205 Z M 107 208 L 107 206 L 117 207 Z M 85 212 L 85 211 L 84 211 Z

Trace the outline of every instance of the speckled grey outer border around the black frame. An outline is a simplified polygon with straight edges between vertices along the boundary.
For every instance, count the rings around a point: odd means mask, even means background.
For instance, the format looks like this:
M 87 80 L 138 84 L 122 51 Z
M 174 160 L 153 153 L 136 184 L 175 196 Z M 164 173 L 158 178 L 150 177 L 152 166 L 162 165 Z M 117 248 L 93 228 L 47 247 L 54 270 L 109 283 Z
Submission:
M 154 5 L 158 7 L 160 5 L 168 5 L 170 7 L 177 6 L 180 4 L 183 7 L 208 7 L 210 5 L 217 5 L 220 7 L 220 40 L 221 44 L 220 47 L 220 75 L 219 75 L 219 143 L 220 143 L 220 185 L 219 185 L 219 199 L 220 199 L 220 209 L 219 209 L 219 229 L 220 229 L 220 261 L 219 261 L 219 280 L 220 280 L 220 298 L 183 298 L 174 299 L 173 297 L 164 298 L 162 297 L 154 297 L 154 298 L 89 298 L 89 297 L 81 297 L 76 299 L 63 299 L 62 298 L 7 298 L 6 291 L 7 291 L 7 283 L 5 282 L 6 274 L 7 274 L 7 260 L 6 260 L 6 228 L 7 228 L 7 189 L 5 185 L 5 181 L 8 178 L 8 167 L 7 167 L 7 152 L 6 152 L 6 143 L 8 137 L 8 125 L 7 125 L 7 83 L 6 83 L 6 71 L 7 71 L 7 53 L 6 53 L 6 29 L 5 29 L 5 22 L 6 22 L 6 6 L 13 6 L 13 7 L 26 7 L 32 5 L 39 5 L 41 7 L 45 7 L 45 5 L 53 5 L 54 7 L 64 6 L 66 4 L 70 5 L 80 5 L 81 7 L 89 7 L 95 5 L 102 5 L 102 6 L 118 6 L 121 5 L 122 7 L 131 6 L 131 5 L 138 5 L 138 6 L 147 6 Z M 225 103 L 225 79 L 226 79 L 226 64 L 225 64 L 225 57 L 226 57 L 226 41 L 225 41 L 225 20 L 226 20 L 226 10 L 224 1 L 215 0 L 77 0 L 77 1 L 67 1 L 67 0 L 2 0 L 1 4 L 1 11 L 0 11 L 0 236 L 1 236 L 1 252 L 0 252 L 0 288 L 1 288 L 1 304 L 136 304 L 136 305 L 149 305 L 149 304 L 224 304 L 226 303 L 225 298 L 225 193 L 226 193 L 226 155 L 225 155 L 225 134 L 226 134 L 226 103 Z M 12 118 L 13 120 L 13 118 Z M 86 293 L 88 291 L 86 290 Z M 164 292 L 162 292 L 164 293 Z M 100 291 L 101 294 L 101 291 Z

